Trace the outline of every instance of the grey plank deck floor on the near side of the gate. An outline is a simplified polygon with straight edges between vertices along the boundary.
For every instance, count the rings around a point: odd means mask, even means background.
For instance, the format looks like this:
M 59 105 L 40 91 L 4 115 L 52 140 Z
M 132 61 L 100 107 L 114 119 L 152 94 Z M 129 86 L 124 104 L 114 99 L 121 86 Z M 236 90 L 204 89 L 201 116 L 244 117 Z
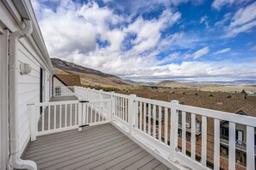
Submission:
M 23 159 L 39 169 L 168 169 L 112 124 L 37 137 Z

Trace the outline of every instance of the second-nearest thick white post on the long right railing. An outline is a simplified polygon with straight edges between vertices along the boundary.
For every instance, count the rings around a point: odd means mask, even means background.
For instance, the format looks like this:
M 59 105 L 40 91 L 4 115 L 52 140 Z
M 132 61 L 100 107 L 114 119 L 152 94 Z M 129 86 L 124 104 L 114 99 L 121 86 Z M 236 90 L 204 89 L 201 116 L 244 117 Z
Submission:
M 135 102 L 136 94 L 130 94 L 129 97 L 129 108 L 128 108 L 128 123 L 129 123 L 129 135 L 133 135 L 135 126 Z

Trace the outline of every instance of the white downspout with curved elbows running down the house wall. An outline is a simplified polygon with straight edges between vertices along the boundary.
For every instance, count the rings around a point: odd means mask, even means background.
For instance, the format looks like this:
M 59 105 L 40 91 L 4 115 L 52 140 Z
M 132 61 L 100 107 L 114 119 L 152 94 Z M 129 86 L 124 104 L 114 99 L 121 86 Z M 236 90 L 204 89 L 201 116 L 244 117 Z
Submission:
M 34 161 L 24 161 L 19 156 L 19 111 L 18 111 L 18 41 L 32 33 L 31 21 L 23 19 L 25 28 L 9 36 L 9 165 L 15 169 L 37 169 Z

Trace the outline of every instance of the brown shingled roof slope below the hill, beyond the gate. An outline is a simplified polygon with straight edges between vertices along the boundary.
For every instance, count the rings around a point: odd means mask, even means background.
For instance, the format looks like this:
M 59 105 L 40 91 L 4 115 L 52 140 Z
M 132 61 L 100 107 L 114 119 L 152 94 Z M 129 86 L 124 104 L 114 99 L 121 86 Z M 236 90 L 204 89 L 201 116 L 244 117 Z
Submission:
M 66 86 L 81 86 L 80 76 L 78 75 L 55 74 L 55 76 Z

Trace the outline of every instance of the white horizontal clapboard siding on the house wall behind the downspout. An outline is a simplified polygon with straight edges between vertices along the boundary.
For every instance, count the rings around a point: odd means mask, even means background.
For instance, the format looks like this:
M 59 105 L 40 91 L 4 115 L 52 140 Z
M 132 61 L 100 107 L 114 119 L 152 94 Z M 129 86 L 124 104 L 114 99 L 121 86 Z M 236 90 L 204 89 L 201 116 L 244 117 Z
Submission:
M 31 51 L 26 39 L 22 39 L 18 45 L 18 65 L 27 63 L 31 66 L 31 72 L 28 75 L 18 76 L 18 106 L 19 106 L 19 143 L 20 153 L 25 149 L 30 138 L 30 112 L 28 103 L 40 101 L 40 59 L 36 53 Z M 24 47 L 25 44 L 26 47 Z M 29 49 L 29 52 L 28 52 Z M 20 70 L 18 70 L 20 72 Z M 45 75 L 48 75 L 46 73 Z M 46 76 L 45 76 L 46 77 Z M 49 100 L 49 81 L 45 80 L 45 101 Z M 47 85 L 48 83 L 48 85 Z M 39 110 L 36 111 L 39 113 Z

